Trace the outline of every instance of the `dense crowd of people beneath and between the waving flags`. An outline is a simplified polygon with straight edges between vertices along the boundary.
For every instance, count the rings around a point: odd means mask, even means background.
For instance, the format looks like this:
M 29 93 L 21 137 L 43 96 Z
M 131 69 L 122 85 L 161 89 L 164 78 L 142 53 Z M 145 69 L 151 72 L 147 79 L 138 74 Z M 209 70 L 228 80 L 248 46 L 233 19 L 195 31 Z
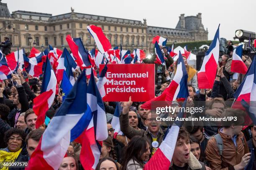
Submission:
M 162 47 L 166 67 L 156 64 L 155 92 L 156 96 L 166 89 L 176 74 L 177 63 Z M 239 121 L 230 125 L 225 122 L 200 125 L 186 124 L 179 129 L 174 148 L 170 170 L 243 170 L 250 158 L 253 169 L 256 169 L 256 125 L 243 128 L 243 110 L 230 108 L 225 101 L 234 100 L 237 90 L 245 75 L 233 76 L 230 71 L 232 61 L 231 49 L 228 54 L 220 57 L 220 65 L 212 89 L 199 89 L 197 70 L 187 63 L 183 57 L 188 73 L 189 102 L 206 103 L 203 116 L 225 117 L 237 116 Z M 154 56 L 155 57 L 155 56 Z M 154 63 L 154 57 L 144 59 L 143 63 Z M 243 55 L 247 67 L 251 64 L 250 57 Z M 8 168 L 4 162 L 28 161 L 38 146 L 39 140 L 51 121 L 46 121 L 36 129 L 37 115 L 33 112 L 33 99 L 40 94 L 42 77 L 25 76 L 18 70 L 12 79 L 0 82 L 0 169 Z M 118 102 L 104 102 L 108 121 L 108 138 L 103 141 L 100 161 L 96 170 L 142 170 L 148 160 L 156 153 L 164 140 L 167 126 L 156 121 L 151 110 L 141 108 L 144 102 L 121 102 L 120 130 L 123 135 L 115 135 L 111 120 Z M 56 95 L 54 103 L 46 112 L 51 119 L 62 103 L 61 92 Z M 188 113 L 189 114 L 189 113 Z M 197 116 L 202 116 L 197 115 Z M 3 139 L 3 140 L 2 140 Z M 81 144 L 72 142 L 62 160 L 59 170 L 82 170 L 80 162 Z

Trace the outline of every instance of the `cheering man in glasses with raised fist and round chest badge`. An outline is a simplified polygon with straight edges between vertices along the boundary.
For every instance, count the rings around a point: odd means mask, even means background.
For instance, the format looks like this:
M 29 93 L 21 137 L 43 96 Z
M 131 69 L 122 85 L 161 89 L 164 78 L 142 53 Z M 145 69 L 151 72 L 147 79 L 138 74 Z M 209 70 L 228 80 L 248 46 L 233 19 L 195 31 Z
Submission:
M 131 139 L 133 136 L 139 135 L 146 138 L 151 146 L 151 156 L 159 148 L 159 145 L 164 139 L 164 132 L 160 128 L 160 122 L 156 121 L 156 114 L 148 112 L 145 120 L 147 130 L 137 130 L 129 125 L 129 107 L 132 105 L 131 97 L 128 102 L 123 103 L 123 112 L 120 116 L 120 128 L 127 138 Z

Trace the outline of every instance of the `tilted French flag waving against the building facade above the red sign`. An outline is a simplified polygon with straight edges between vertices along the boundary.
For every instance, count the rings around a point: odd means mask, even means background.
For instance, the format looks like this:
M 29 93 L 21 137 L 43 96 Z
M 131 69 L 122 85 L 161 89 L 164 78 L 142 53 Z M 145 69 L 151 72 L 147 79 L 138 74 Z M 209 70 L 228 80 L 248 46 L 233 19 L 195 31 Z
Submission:
M 100 27 L 96 27 L 95 25 L 89 25 L 87 26 L 87 30 L 94 38 L 95 43 L 102 54 L 112 48 L 108 38 L 105 37 Z

